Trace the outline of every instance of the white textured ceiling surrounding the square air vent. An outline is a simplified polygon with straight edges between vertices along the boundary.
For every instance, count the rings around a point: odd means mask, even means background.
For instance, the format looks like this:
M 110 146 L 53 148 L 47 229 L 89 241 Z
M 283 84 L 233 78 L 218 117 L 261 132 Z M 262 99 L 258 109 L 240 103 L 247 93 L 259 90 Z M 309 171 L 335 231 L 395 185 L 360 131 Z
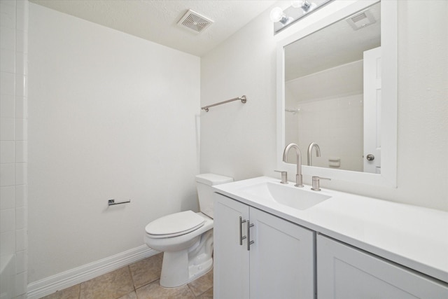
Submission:
M 55 11 L 202 56 L 272 6 L 274 0 L 30 0 Z M 177 25 L 191 9 L 214 23 L 196 34 Z

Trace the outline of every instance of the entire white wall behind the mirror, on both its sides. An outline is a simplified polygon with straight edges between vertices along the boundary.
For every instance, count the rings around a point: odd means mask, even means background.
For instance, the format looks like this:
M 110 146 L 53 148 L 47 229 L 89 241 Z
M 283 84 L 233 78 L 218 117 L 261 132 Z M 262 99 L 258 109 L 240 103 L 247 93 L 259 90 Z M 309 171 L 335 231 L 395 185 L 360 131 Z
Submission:
M 448 211 L 448 2 L 398 1 L 398 13 L 398 188 L 341 181 L 332 188 Z M 267 10 L 202 57 L 202 105 L 248 97 L 202 112 L 202 172 L 278 176 L 275 47 L 300 22 L 293 27 L 273 36 Z

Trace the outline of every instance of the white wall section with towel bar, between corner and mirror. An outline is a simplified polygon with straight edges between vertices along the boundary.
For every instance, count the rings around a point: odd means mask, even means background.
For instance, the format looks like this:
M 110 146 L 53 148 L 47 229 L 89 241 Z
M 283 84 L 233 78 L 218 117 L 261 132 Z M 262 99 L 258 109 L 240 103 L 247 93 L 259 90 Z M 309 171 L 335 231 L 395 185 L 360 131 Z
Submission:
M 267 18 L 267 22 L 265 20 Z M 201 58 L 201 172 L 235 180 L 272 174 L 275 160 L 275 43 L 269 11 Z

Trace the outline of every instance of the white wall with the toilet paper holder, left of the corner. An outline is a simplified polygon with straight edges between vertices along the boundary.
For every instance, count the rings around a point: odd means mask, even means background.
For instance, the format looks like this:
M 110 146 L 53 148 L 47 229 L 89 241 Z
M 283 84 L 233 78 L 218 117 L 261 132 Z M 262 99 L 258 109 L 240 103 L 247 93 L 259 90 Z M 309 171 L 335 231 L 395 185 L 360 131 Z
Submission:
M 29 78 L 30 282 L 197 209 L 199 57 L 29 4 Z

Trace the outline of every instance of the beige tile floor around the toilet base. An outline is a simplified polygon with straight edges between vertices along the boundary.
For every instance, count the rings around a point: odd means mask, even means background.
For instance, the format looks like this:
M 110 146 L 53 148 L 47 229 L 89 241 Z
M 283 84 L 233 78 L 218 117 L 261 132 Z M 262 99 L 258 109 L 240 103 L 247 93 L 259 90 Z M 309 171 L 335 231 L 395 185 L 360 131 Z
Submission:
M 213 298 L 213 270 L 186 286 L 162 288 L 159 285 L 162 254 L 57 291 L 43 299 Z

